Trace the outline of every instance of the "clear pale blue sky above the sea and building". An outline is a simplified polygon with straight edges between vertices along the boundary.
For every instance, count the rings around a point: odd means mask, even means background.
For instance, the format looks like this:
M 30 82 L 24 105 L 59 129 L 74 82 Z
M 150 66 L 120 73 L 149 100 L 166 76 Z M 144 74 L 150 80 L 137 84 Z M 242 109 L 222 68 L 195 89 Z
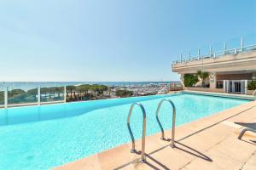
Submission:
M 0 82 L 177 81 L 181 53 L 255 31 L 255 0 L 0 0 Z

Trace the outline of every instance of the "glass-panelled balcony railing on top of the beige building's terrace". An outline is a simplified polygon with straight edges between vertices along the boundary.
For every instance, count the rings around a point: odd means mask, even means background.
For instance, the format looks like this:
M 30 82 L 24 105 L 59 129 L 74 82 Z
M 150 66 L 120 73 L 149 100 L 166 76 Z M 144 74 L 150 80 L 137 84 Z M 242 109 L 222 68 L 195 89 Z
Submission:
M 231 48 L 227 48 L 227 45 L 229 44 Z M 189 63 L 190 61 L 195 60 L 218 58 L 228 54 L 241 54 L 248 51 L 256 51 L 256 34 L 251 37 L 247 37 L 247 39 L 241 38 L 240 42 L 238 40 L 230 43 L 224 42 L 224 48 L 222 49 L 213 48 L 212 46 L 209 46 L 208 48 L 199 48 L 196 55 L 191 55 L 189 51 L 189 55 L 181 54 L 180 59 L 173 61 L 172 65 Z

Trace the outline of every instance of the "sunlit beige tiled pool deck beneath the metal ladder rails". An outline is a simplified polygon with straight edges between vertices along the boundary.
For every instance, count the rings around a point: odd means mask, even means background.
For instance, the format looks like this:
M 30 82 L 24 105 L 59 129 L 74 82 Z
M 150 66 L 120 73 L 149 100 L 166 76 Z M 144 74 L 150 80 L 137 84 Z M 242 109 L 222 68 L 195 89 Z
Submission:
M 131 143 L 55 167 L 64 169 L 256 169 L 256 133 L 237 139 L 241 126 L 256 122 L 256 101 L 221 111 L 177 127 L 176 147 L 160 140 L 160 133 L 146 137 L 146 162 L 131 154 Z M 131 125 L 132 126 L 132 125 Z M 171 138 L 171 130 L 166 137 Z M 86 146 L 84 146 L 86 147 Z M 141 140 L 136 141 L 141 150 Z

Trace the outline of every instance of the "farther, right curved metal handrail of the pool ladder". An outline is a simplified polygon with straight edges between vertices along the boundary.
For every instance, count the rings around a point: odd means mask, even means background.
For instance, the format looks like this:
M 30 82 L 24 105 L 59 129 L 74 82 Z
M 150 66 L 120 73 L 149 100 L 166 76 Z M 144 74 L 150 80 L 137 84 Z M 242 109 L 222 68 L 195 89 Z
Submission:
M 161 123 L 160 123 L 160 120 L 159 120 L 159 111 L 160 111 L 160 107 L 162 105 L 162 103 L 164 101 L 167 101 L 169 102 L 171 105 L 172 105 L 172 148 L 175 146 L 174 144 L 174 139 L 175 139 L 175 122 L 176 122 L 176 108 L 175 108 L 175 105 L 173 104 L 172 100 L 171 99 L 162 99 L 157 107 L 157 110 L 156 110 L 156 121 L 158 122 L 159 126 L 160 126 L 160 129 L 161 129 L 161 139 L 162 140 L 165 140 L 165 132 L 164 132 L 164 128 L 162 127 Z

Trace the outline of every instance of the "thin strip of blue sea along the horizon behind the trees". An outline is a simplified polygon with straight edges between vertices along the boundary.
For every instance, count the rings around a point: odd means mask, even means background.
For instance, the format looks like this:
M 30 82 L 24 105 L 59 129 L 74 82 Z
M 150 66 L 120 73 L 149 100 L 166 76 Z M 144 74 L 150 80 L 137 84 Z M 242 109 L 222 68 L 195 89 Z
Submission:
M 0 82 L 0 90 L 8 87 L 9 89 L 23 89 L 28 90 L 32 88 L 49 88 L 49 87 L 62 87 L 68 85 L 81 85 L 81 84 L 102 84 L 108 87 L 139 87 L 148 84 L 160 85 L 169 82 Z

